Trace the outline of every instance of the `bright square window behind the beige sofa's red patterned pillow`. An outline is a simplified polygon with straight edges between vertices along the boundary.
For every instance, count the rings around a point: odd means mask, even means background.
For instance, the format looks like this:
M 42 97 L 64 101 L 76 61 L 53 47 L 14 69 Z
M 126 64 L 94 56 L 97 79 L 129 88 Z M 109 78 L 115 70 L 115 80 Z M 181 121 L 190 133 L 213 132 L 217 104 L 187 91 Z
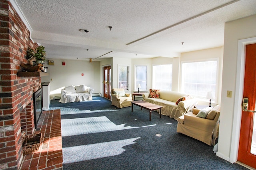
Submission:
M 172 64 L 153 66 L 152 88 L 172 90 Z

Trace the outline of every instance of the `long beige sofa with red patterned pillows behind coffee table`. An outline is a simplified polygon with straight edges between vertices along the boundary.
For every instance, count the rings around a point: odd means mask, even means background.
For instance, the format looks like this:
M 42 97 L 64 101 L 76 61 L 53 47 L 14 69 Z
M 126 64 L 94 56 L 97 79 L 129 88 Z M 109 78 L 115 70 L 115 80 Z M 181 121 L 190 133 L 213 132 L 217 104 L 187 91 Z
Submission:
M 194 104 L 197 103 L 197 100 L 191 96 L 168 90 L 160 90 L 159 98 L 150 98 L 149 93 L 143 94 L 142 97 L 146 102 L 163 106 L 162 115 L 169 116 L 176 120 L 190 109 L 193 109 Z M 176 102 L 182 97 L 185 97 L 186 100 L 180 101 L 178 105 L 176 105 Z

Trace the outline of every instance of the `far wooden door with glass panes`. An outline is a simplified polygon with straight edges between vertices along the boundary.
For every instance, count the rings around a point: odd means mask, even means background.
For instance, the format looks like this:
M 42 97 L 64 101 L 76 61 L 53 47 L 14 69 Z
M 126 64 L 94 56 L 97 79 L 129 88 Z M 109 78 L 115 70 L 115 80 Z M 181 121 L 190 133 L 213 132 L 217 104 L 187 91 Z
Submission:
M 111 66 L 104 66 L 103 68 L 103 90 L 104 97 L 110 99 L 111 96 Z

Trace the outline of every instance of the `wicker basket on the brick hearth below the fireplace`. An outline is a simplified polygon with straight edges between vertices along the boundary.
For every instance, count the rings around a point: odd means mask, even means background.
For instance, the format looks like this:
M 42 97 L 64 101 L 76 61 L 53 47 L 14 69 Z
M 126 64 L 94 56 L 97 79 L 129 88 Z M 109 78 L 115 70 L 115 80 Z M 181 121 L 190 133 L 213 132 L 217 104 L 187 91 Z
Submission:
M 38 151 L 41 144 L 42 133 L 22 137 L 23 156 Z

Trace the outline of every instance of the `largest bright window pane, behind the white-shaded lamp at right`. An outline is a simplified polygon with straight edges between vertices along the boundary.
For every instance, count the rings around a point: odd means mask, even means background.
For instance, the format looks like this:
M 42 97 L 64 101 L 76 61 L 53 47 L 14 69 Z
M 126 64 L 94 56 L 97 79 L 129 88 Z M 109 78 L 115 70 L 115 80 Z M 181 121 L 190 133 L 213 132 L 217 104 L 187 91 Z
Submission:
M 212 92 L 215 98 L 217 63 L 217 60 L 182 63 L 182 92 L 204 98 L 207 92 Z

